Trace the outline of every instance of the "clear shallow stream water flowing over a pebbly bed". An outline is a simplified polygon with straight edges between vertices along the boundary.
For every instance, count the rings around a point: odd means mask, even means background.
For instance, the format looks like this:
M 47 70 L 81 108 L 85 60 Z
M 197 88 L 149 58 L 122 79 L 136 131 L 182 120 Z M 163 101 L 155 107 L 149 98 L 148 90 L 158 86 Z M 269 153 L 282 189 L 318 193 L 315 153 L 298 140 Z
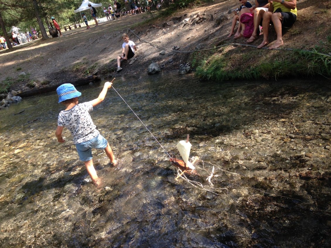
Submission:
M 80 102 L 103 83 L 79 87 Z M 92 119 L 119 163 L 55 138 L 56 92 L 0 111 L 0 247 L 330 247 L 331 84 L 117 78 Z M 169 156 L 190 134 L 181 178 Z M 213 187 L 206 181 L 212 172 Z

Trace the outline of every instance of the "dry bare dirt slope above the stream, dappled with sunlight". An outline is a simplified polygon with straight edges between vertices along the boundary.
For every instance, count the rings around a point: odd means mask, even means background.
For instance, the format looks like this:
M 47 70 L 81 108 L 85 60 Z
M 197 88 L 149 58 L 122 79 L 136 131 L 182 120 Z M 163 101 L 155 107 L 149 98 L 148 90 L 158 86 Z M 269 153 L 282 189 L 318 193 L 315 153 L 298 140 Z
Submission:
M 251 1 L 253 2 L 253 1 Z M 217 44 L 242 43 L 246 39 L 234 41 L 226 38 L 230 30 L 232 14 L 229 9 L 238 7 L 238 1 L 217 0 L 176 13 L 174 16 L 157 19 L 153 23 L 136 23 L 157 16 L 157 12 L 147 12 L 133 16 L 124 16 L 115 21 L 100 23 L 98 27 L 84 27 L 63 32 L 63 37 L 37 40 L 15 47 L 13 52 L 0 52 L 0 82 L 7 77 L 17 78 L 24 71 L 30 74 L 30 81 L 49 81 L 51 84 L 65 82 L 91 74 L 99 69 L 99 75 L 111 76 L 147 73 L 151 62 L 165 63 L 163 70 L 177 70 L 181 63 L 190 62 L 187 51 L 213 48 Z M 311 50 L 320 41 L 326 42 L 330 35 L 330 1 L 317 0 L 312 4 L 308 0 L 297 1 L 298 20 L 284 33 L 286 48 Z M 200 23 L 191 21 L 200 15 Z M 218 23 L 216 20 L 224 14 L 227 20 Z M 182 21 L 189 18 L 187 24 Z M 198 18 L 196 18 L 198 20 Z M 199 21 L 198 21 L 199 22 Z M 127 30 L 126 28 L 131 28 Z M 275 39 L 271 28 L 270 39 Z M 126 32 L 133 40 L 138 52 L 137 61 L 132 65 L 123 64 L 123 70 L 116 73 L 116 57 L 121 52 L 121 34 Z M 139 37 L 139 38 L 138 38 Z M 259 45 L 260 37 L 252 45 Z M 180 47 L 175 51 L 174 46 Z M 237 49 L 231 47 L 231 49 Z M 255 49 L 255 48 L 252 48 Z M 165 55 L 160 51 L 166 50 Z M 277 53 L 270 53 L 277 56 Z M 166 62 L 173 59 L 173 64 Z M 16 85 L 24 88 L 24 85 Z M 13 88 L 15 88 L 13 87 Z

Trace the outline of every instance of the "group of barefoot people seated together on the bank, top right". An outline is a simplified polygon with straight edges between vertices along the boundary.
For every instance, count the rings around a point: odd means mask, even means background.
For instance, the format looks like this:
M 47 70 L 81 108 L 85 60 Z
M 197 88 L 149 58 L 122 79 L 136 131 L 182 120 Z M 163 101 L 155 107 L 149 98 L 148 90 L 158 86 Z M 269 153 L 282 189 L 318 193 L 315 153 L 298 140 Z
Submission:
M 233 10 L 231 31 L 228 38 L 234 35 L 234 39 L 248 38 L 247 43 L 252 43 L 263 34 L 263 41 L 258 48 L 269 44 L 268 34 L 270 24 L 274 26 L 277 35 L 275 43 L 269 47 L 274 49 L 284 44 L 282 39 L 283 28 L 291 27 L 297 20 L 297 2 L 296 0 L 255 0 L 255 6 L 252 6 L 247 0 L 239 0 L 241 5 Z M 249 18 L 244 18 L 249 16 Z M 248 20 L 243 22 L 243 20 Z M 235 25 L 238 22 L 236 33 Z M 248 30 L 249 29 L 249 30 Z M 248 35 L 248 37 L 247 37 Z

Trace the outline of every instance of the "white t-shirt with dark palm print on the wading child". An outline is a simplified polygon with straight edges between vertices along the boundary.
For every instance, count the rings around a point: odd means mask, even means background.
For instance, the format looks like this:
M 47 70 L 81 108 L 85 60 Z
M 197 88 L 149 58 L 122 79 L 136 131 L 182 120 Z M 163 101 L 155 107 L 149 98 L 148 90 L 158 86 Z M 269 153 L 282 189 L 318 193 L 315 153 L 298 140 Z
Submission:
M 69 129 L 73 137 L 73 144 L 91 140 L 100 134 L 89 114 L 89 111 L 92 110 L 92 103 L 86 102 L 60 112 L 58 126 Z

